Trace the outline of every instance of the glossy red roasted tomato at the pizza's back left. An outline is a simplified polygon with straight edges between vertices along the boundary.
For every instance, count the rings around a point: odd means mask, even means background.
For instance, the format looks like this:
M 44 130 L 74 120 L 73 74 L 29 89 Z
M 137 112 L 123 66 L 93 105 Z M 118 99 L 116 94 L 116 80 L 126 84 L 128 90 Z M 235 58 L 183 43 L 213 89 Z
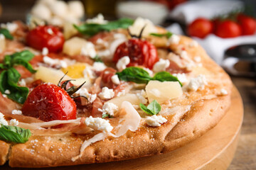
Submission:
M 49 52 L 60 52 L 64 44 L 63 33 L 55 26 L 38 26 L 28 32 L 26 42 L 36 50 L 47 47 Z

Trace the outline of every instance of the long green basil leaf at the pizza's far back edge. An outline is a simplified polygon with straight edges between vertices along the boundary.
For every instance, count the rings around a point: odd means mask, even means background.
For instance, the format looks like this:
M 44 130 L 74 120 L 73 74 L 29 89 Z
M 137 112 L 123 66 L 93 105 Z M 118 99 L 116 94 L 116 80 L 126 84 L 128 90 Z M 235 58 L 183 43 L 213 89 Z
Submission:
M 100 31 L 110 31 L 115 30 L 117 28 L 128 28 L 132 25 L 134 21 L 129 18 L 121 18 L 117 21 L 110 21 L 106 24 L 97 24 L 97 23 L 84 23 L 80 26 L 74 25 L 74 27 L 82 34 L 85 35 L 95 35 L 96 33 L 99 33 Z

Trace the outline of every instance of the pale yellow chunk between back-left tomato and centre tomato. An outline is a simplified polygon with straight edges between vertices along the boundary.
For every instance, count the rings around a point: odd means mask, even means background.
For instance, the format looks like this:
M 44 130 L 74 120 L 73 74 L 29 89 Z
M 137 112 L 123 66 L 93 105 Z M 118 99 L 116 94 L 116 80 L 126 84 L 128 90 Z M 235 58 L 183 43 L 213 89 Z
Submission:
M 74 37 L 70 40 L 66 40 L 63 45 L 63 53 L 66 55 L 80 55 L 82 47 L 87 45 L 87 40 L 82 38 Z

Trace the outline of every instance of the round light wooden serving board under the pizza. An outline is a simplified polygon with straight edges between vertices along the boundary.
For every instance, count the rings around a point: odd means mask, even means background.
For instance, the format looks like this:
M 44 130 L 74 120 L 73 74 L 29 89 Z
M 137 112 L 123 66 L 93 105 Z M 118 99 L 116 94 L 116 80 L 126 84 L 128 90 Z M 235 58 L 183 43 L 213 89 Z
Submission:
M 235 149 L 238 145 L 242 118 L 242 98 L 240 97 L 238 90 L 233 88 L 232 104 L 230 110 L 228 113 L 226 113 L 225 117 L 220 121 L 220 123 L 218 123 L 215 128 L 209 130 L 202 137 L 184 147 L 174 150 L 173 152 L 152 157 L 131 159 L 122 162 L 61 166 L 48 168 L 47 170 L 227 169 L 233 159 Z M 11 168 L 8 165 L 5 165 L 4 169 Z

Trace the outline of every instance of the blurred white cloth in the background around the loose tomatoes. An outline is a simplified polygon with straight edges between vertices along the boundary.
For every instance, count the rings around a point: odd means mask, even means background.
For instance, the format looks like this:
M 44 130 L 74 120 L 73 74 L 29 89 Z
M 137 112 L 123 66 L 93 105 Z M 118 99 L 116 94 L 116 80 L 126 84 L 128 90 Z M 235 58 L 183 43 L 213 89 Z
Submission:
M 242 2 L 237 0 L 188 1 L 177 6 L 174 11 L 171 12 L 171 17 L 175 17 L 177 20 L 188 24 L 200 16 L 213 18 L 213 16 L 228 13 L 235 8 L 242 7 Z M 171 33 L 184 35 L 183 30 L 177 23 L 168 26 L 166 29 Z M 210 34 L 204 39 L 192 38 L 220 65 L 222 64 L 225 50 L 228 50 L 228 48 L 235 45 L 256 44 L 256 33 L 255 35 L 240 36 L 237 38 L 219 38 L 214 34 Z

